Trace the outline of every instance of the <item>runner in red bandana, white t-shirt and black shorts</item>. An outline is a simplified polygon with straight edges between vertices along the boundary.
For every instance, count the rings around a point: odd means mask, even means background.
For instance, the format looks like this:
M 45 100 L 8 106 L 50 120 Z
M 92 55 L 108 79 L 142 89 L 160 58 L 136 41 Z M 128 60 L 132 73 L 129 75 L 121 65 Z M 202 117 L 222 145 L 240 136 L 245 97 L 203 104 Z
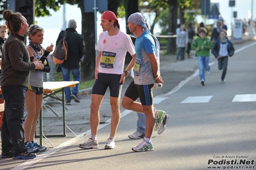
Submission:
M 99 127 L 99 108 L 107 91 L 110 89 L 110 105 L 112 111 L 110 136 L 107 139 L 105 149 L 115 148 L 115 132 L 120 121 L 120 95 L 122 84 L 128 71 L 132 69 L 136 55 L 130 36 L 120 31 L 120 26 L 115 13 L 106 11 L 101 15 L 101 27 L 103 33 L 99 35 L 98 55 L 96 57 L 95 79 L 92 87 L 90 104 L 90 128 L 91 137 L 80 144 L 80 148 L 99 148 L 97 134 Z M 124 70 L 126 52 L 132 55 L 132 61 Z

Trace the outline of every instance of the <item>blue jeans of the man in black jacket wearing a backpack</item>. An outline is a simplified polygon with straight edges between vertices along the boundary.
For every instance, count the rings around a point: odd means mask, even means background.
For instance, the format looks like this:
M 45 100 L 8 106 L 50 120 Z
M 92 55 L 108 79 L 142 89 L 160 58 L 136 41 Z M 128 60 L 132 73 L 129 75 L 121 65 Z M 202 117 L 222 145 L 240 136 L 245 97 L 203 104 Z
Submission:
M 64 68 L 62 67 L 62 77 L 63 81 L 70 81 L 70 72 L 73 74 L 74 81 L 81 80 L 81 72 L 79 68 L 76 69 L 70 69 L 70 68 Z M 65 98 L 67 101 L 71 101 L 71 89 L 70 88 L 64 88 L 65 91 Z M 72 93 L 78 94 L 79 93 L 79 83 L 76 84 L 74 88 L 72 88 Z

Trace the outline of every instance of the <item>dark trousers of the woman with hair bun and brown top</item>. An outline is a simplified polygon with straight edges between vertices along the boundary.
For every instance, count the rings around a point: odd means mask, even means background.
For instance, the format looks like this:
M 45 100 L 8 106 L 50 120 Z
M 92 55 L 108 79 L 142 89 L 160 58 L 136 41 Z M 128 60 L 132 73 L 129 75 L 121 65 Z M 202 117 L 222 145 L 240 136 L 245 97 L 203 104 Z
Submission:
M 24 143 L 24 104 L 28 88 L 22 86 L 4 86 L 4 115 L 1 127 L 2 151 L 13 149 L 13 155 L 18 155 L 27 148 Z

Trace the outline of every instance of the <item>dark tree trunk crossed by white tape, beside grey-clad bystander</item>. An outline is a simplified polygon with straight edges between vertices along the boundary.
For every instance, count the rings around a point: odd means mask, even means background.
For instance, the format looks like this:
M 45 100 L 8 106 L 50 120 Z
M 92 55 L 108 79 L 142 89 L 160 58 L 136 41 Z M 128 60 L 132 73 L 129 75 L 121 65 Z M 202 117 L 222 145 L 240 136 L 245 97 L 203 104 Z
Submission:
M 175 0 L 168 0 L 169 4 L 169 22 L 168 22 L 168 34 L 175 35 L 177 27 L 177 9 L 178 3 Z M 167 42 L 167 54 L 175 54 L 176 52 L 176 38 L 168 38 Z

